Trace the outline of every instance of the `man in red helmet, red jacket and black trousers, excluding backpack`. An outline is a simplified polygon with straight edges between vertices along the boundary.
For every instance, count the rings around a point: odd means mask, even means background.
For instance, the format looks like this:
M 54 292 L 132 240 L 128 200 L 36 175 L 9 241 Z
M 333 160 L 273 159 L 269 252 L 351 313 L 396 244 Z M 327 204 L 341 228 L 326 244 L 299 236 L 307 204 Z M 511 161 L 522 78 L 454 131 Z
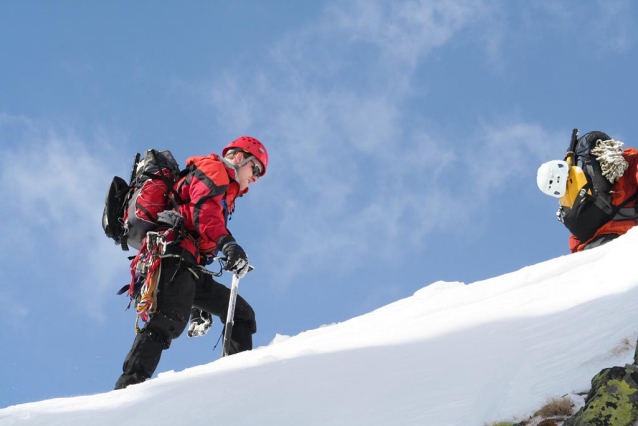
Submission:
M 266 148 L 257 139 L 243 136 L 226 146 L 222 157 L 191 157 L 186 164 L 188 173 L 174 187 L 183 204 L 168 211 L 170 214 L 158 215 L 166 223 L 178 217 L 183 235 L 167 245 L 157 284 L 157 308 L 136 336 L 115 389 L 150 378 L 162 351 L 186 329 L 189 317 L 189 336 L 205 334 L 211 325 L 210 314 L 225 322 L 230 290 L 198 265 L 209 263 L 221 252 L 227 258 L 226 270 L 241 278 L 249 269 L 246 252 L 226 224 L 237 197 L 266 174 Z M 252 334 L 257 331 L 255 313 L 240 296 L 235 309 L 229 354 L 252 349 Z

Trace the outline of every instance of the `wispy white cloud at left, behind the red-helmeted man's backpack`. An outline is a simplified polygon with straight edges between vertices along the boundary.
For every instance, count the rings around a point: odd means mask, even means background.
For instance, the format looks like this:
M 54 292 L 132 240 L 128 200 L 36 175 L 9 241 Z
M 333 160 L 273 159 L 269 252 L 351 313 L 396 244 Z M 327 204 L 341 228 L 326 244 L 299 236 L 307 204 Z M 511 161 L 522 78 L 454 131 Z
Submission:
M 0 221 L 10 225 L 0 262 L 37 262 L 66 283 L 79 309 L 100 317 L 101 296 L 120 281 L 113 268 L 118 253 L 104 238 L 100 218 L 121 159 L 101 131 L 82 138 L 72 129 L 2 114 L 0 137 L 0 185 L 11 200 L 0 210 Z

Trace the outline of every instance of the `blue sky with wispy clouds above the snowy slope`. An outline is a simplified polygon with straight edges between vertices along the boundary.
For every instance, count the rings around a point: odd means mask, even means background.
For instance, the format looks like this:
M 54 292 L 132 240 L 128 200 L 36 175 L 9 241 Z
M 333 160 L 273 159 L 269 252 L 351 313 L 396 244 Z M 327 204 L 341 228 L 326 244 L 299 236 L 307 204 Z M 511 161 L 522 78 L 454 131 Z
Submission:
M 308 3 L 308 4 L 306 4 Z M 251 135 L 229 228 L 256 346 L 568 253 L 538 165 L 638 146 L 630 1 L 3 2 L 0 407 L 110 390 L 134 338 L 103 200 L 136 152 Z M 222 282 L 229 284 L 230 277 Z M 159 371 L 210 362 L 219 321 Z

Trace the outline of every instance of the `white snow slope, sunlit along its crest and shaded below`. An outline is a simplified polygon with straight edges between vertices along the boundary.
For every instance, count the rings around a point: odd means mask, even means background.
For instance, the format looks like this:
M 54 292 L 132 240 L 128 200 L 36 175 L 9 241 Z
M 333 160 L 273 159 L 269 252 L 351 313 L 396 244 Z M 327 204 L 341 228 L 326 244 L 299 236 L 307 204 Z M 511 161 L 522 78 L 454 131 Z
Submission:
M 631 362 L 638 229 L 120 391 L 0 410 L 0 425 L 483 426 Z M 498 261 L 495 259 L 495 261 Z M 620 353 L 619 353 L 620 352 Z M 115 381 L 115 378 L 114 378 Z

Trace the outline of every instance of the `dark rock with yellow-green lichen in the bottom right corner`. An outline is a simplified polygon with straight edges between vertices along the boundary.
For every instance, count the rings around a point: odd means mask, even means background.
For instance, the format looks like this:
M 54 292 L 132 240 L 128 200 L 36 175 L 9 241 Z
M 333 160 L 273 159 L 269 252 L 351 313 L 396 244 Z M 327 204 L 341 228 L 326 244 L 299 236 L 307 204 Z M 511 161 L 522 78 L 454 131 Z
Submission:
M 563 426 L 632 426 L 638 421 L 638 372 L 613 367 L 592 379 L 585 406 Z

